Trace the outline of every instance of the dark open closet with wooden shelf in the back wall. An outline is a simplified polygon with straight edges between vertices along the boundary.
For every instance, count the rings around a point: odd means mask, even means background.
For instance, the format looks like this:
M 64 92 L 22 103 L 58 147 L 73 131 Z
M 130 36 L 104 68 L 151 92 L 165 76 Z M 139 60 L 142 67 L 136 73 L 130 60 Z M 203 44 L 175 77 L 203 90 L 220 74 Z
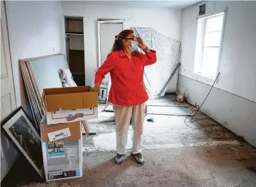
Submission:
M 83 17 L 65 17 L 67 62 L 77 86 L 85 85 Z

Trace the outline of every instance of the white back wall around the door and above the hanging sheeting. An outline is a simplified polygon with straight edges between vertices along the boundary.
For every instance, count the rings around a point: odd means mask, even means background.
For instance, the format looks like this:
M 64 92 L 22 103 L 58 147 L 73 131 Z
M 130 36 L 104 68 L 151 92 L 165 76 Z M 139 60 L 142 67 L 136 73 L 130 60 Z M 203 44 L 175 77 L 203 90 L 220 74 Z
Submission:
M 93 69 L 98 65 L 97 18 L 126 19 L 125 29 L 153 27 L 161 34 L 180 41 L 180 10 L 99 6 L 83 3 L 62 3 L 62 14 L 84 16 L 84 53 L 86 84 L 92 84 Z M 114 42 L 114 38 L 113 38 Z M 177 79 L 169 89 L 176 90 Z

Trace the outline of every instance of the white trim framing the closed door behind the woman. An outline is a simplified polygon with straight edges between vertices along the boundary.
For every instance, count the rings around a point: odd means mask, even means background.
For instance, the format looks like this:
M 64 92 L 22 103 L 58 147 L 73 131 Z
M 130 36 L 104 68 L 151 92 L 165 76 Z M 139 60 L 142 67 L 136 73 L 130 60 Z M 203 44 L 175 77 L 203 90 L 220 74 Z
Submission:
M 101 66 L 102 63 L 102 53 L 101 53 L 101 32 L 100 25 L 101 24 L 119 24 L 122 23 L 123 30 L 125 29 L 125 19 L 117 19 L 117 20 L 98 20 L 98 67 Z

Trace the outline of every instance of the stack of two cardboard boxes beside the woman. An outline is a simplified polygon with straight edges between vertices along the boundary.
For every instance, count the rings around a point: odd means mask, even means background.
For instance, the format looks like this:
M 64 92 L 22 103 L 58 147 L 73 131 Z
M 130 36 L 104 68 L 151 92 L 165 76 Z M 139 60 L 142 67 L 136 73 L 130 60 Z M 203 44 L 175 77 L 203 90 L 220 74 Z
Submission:
M 81 120 L 98 117 L 98 96 L 90 86 L 44 89 L 41 140 L 46 181 L 83 176 Z

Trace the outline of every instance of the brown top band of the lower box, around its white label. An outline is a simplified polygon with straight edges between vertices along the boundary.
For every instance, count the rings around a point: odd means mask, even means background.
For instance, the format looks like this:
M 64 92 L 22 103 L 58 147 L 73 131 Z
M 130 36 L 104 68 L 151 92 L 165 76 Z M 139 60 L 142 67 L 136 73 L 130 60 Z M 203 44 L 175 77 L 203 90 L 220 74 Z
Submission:
M 48 137 L 48 133 L 59 131 L 62 129 L 69 128 L 71 132 L 71 136 L 68 136 L 66 138 L 58 139 L 60 140 L 73 140 L 73 139 L 81 139 L 81 127 L 80 122 L 69 122 L 65 124 L 55 124 L 55 125 L 47 125 L 45 123 L 45 120 L 41 121 L 41 139 L 42 142 L 48 142 L 50 141 Z

